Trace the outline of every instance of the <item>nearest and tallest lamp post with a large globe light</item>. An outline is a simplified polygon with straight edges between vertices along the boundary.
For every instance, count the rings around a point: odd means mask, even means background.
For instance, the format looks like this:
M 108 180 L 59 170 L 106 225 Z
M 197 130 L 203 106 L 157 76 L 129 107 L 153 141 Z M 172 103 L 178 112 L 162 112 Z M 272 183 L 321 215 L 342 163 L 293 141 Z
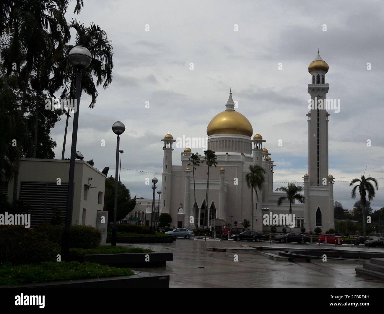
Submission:
M 92 56 L 89 50 L 83 46 L 75 46 L 68 54 L 68 60 L 74 69 L 76 69 L 76 89 L 72 129 L 71 160 L 70 173 L 68 178 L 67 205 L 65 211 L 65 228 L 63 240 L 61 243 L 61 259 L 66 261 L 70 251 L 70 229 L 72 223 L 73 211 L 73 188 L 74 188 L 74 165 L 76 159 L 77 130 L 79 124 L 79 105 L 81 96 L 81 74 L 83 70 L 91 64 Z M 69 108 L 68 108 L 69 109 Z

